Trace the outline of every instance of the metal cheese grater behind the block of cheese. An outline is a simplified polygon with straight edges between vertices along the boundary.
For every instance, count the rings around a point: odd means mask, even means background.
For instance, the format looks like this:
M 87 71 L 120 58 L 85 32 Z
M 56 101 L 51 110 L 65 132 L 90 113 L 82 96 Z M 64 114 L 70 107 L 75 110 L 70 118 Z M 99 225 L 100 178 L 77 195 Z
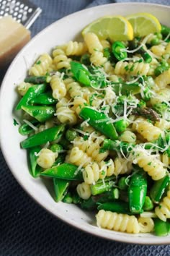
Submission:
M 42 12 L 42 9 L 28 0 L 0 0 L 0 18 L 11 15 L 27 29 Z

